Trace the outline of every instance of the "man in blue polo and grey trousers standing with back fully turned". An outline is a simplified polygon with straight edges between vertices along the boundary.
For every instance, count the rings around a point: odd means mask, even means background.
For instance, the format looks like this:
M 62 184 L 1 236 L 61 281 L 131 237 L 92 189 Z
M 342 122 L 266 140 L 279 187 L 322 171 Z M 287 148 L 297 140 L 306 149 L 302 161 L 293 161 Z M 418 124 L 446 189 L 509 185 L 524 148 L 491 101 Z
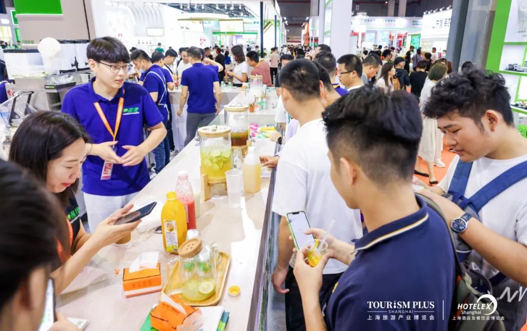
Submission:
M 200 48 L 190 47 L 187 55 L 192 67 L 186 69 L 181 77 L 181 102 L 178 111 L 178 116 L 181 116 L 188 98 L 185 146 L 196 136 L 200 124 L 206 126 L 212 122 L 220 112 L 221 102 L 217 71 L 203 65 Z

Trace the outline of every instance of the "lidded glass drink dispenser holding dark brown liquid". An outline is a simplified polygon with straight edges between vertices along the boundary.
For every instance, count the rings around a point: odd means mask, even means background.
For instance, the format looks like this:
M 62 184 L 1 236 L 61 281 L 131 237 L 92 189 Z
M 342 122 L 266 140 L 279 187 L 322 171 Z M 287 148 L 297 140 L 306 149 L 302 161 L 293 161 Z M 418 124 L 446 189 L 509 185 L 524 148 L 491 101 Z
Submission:
M 249 105 L 225 106 L 225 124 L 231 128 L 232 148 L 247 148 L 249 140 Z

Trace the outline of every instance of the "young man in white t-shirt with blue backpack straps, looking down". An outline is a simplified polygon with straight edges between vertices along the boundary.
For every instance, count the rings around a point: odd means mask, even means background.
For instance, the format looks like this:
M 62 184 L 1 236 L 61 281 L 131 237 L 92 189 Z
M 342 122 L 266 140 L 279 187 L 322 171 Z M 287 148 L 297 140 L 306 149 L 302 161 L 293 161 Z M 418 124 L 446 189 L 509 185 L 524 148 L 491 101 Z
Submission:
M 527 161 L 527 139 L 514 127 L 509 102 L 503 77 L 476 69 L 452 74 L 434 87 L 424 115 L 437 118 L 446 143 L 457 156 L 440 185 L 426 187 L 427 190 L 437 194 L 448 192 L 456 186 L 452 179 L 460 161 L 472 162 L 466 189 L 462 192 L 470 199 L 497 176 Z M 500 180 L 500 184 L 504 182 Z M 431 195 L 447 220 L 452 221 L 453 231 L 472 247 L 467 258 L 470 267 L 487 278 L 500 272 L 506 276 L 501 281 L 497 278 L 499 283 L 493 284 L 492 295 L 497 298 L 497 310 L 510 331 L 520 330 L 527 317 L 525 187 L 527 179 L 520 179 L 490 199 L 478 212 L 481 222 L 466 215 L 450 200 Z

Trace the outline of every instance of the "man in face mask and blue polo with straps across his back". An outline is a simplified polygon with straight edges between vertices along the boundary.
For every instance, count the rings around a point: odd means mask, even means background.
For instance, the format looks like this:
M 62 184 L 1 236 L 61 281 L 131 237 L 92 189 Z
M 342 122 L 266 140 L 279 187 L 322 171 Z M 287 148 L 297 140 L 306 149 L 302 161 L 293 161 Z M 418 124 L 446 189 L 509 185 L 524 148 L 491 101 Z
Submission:
M 167 107 L 167 81 L 162 68 L 152 63 L 152 59 L 142 49 L 136 49 L 130 55 L 135 69 L 144 72 L 143 86 L 147 89 L 152 97 L 153 102 L 158 106 L 163 115 L 163 124 L 168 126 L 168 107 Z M 155 159 L 155 173 L 159 174 L 167 164 L 167 158 L 170 161 L 170 149 L 168 138 L 165 136 L 163 141 L 153 150 Z

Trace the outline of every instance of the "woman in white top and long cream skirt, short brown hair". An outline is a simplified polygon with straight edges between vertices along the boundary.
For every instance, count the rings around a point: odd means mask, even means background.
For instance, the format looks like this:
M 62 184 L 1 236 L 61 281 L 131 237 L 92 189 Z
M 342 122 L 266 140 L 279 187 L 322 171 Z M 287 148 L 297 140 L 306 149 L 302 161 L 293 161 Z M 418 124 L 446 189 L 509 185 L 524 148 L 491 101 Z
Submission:
M 438 62 L 430 68 L 428 77 L 426 78 L 423 89 L 421 90 L 421 112 L 430 98 L 432 88 L 437 84 L 437 81 L 446 76 L 448 68 L 444 63 Z M 437 184 L 437 179 L 434 175 L 434 164 L 438 167 L 444 167 L 441 162 L 441 153 L 443 152 L 443 134 L 437 128 L 437 119 L 423 116 L 423 134 L 421 136 L 421 143 L 419 144 L 419 152 L 417 154 L 417 167 L 415 174 L 422 176 L 430 176 L 430 184 Z M 426 162 L 428 174 L 421 171 L 421 159 Z

